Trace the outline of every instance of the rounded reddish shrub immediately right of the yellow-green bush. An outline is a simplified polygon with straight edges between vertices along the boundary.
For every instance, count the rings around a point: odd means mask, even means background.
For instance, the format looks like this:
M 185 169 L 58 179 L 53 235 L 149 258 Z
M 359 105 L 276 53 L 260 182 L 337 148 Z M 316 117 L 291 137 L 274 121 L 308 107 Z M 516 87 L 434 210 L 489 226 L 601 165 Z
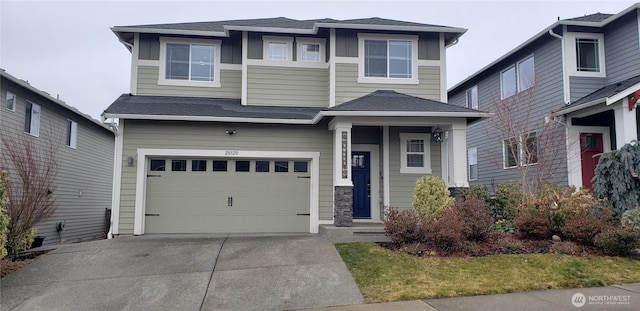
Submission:
M 461 200 L 456 207 L 460 212 L 460 221 L 469 228 L 466 238 L 476 241 L 484 240 L 493 224 L 493 218 L 489 214 L 487 204 L 477 197 L 467 197 Z

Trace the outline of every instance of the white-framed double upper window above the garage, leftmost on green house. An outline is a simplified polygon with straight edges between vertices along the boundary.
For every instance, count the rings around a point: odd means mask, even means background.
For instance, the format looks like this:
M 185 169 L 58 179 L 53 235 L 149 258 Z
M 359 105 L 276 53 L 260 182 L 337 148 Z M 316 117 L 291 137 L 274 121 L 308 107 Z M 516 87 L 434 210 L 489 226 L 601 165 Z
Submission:
M 218 40 L 160 39 L 159 84 L 219 86 Z

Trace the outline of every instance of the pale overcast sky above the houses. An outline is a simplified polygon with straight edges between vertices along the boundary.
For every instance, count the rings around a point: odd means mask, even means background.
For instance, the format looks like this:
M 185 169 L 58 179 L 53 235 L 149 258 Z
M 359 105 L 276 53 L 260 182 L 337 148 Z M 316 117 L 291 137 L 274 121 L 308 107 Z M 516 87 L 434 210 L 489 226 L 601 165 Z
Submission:
M 131 53 L 113 26 L 288 17 L 382 17 L 468 29 L 447 50 L 447 88 L 557 21 L 635 1 L 12 1 L 0 0 L 0 68 L 80 111 L 130 92 Z

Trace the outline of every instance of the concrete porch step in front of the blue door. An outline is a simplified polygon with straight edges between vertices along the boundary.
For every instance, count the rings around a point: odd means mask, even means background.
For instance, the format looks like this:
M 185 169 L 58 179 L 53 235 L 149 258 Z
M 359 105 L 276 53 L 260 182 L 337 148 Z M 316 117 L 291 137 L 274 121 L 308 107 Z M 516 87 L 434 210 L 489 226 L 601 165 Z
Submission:
M 334 243 L 389 242 L 380 223 L 354 223 L 352 227 L 320 225 L 318 231 Z

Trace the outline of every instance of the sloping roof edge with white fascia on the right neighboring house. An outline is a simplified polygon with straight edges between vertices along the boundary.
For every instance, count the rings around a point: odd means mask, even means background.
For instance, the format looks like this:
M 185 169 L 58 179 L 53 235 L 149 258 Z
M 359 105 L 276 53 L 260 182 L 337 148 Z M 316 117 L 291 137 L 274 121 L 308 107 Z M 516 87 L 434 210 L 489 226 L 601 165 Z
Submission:
M 561 20 L 553 23 L 551 26 L 545 28 L 541 32 L 537 33 L 533 37 L 529 38 L 527 41 L 525 41 L 522 44 L 518 45 L 517 47 L 515 47 L 511 51 L 509 51 L 506 54 L 500 56 L 498 59 L 496 59 L 493 62 L 489 63 L 488 65 L 482 67 L 480 70 L 478 70 L 475 73 L 469 75 L 468 77 L 466 77 L 462 81 L 456 83 L 454 86 L 450 87 L 447 90 L 447 92 L 449 92 L 449 93 L 457 92 L 459 89 L 463 88 L 466 85 L 467 82 L 469 82 L 472 79 L 475 79 L 477 76 L 479 76 L 482 73 L 484 73 L 485 71 L 491 69 L 493 66 L 498 65 L 500 62 L 502 62 L 506 58 L 510 57 L 511 55 L 519 52 L 523 48 L 527 47 L 529 44 L 531 44 L 535 40 L 538 40 L 539 38 L 542 38 L 543 36 L 550 35 L 550 32 L 552 32 L 553 29 L 558 27 L 558 26 L 567 25 L 567 26 L 585 26 L 585 27 L 604 27 L 604 26 L 610 24 L 611 22 L 614 22 L 617 19 L 627 15 L 629 12 L 632 12 L 632 11 L 637 10 L 637 9 L 640 9 L 640 3 L 635 3 L 635 4 L 631 5 L 630 7 L 626 8 L 625 10 L 623 10 L 622 12 L 617 13 L 617 14 L 595 13 L 595 14 L 591 14 L 591 15 L 585 15 L 585 16 L 575 17 L 575 18 L 570 18 L 570 19 L 561 19 Z

